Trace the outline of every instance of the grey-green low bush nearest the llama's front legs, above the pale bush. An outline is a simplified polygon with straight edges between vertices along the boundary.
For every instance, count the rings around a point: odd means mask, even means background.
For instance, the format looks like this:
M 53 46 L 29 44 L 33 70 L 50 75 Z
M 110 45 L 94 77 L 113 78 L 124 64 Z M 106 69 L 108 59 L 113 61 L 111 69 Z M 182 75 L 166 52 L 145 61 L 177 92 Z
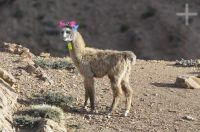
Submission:
M 59 92 L 48 92 L 43 95 L 43 99 L 46 104 L 59 107 L 65 107 L 73 102 L 73 97 L 65 96 L 63 93 Z

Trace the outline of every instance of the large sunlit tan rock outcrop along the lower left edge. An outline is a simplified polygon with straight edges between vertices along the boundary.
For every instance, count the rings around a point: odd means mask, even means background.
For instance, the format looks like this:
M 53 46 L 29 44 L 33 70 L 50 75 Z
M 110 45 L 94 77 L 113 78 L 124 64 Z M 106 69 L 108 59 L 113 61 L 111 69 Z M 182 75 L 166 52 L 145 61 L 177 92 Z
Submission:
M 12 88 L 15 79 L 5 70 L 0 69 L 0 131 L 15 132 L 12 126 L 12 112 L 17 94 Z

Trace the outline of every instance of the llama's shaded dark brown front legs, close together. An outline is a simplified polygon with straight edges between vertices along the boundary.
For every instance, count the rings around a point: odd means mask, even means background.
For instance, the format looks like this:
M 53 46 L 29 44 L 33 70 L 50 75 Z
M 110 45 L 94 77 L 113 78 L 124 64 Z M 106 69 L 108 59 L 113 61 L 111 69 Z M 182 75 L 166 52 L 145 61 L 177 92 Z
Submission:
M 94 79 L 92 77 L 84 79 L 85 86 L 85 102 L 84 107 L 87 106 L 88 98 L 90 99 L 91 112 L 94 112 L 95 106 L 95 89 L 94 89 Z

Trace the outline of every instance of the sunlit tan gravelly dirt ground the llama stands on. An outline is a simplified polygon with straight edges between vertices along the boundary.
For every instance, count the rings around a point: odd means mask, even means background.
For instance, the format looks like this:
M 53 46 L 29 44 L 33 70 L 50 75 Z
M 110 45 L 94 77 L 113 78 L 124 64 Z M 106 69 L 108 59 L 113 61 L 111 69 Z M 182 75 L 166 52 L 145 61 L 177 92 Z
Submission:
M 81 112 L 84 100 L 83 80 L 79 74 L 67 70 L 45 69 L 54 81 L 47 85 L 30 76 L 18 62 L 19 55 L 0 52 L 0 66 L 12 73 L 18 83 L 19 109 L 30 104 L 28 98 L 45 91 L 59 91 L 75 98 L 70 110 L 65 110 L 69 131 L 80 132 L 199 132 L 200 89 L 183 89 L 174 86 L 178 75 L 198 74 L 198 68 L 176 67 L 175 62 L 137 60 L 130 77 L 134 90 L 133 104 L 128 117 L 122 117 L 125 99 L 119 103 L 113 116 L 104 112 L 112 102 L 112 91 L 107 77 L 96 79 L 96 114 Z M 55 58 L 52 58 L 55 59 Z M 20 68 L 21 67 L 21 68 Z M 22 74 L 21 74 L 22 73 Z M 190 116 L 194 120 L 184 117 Z

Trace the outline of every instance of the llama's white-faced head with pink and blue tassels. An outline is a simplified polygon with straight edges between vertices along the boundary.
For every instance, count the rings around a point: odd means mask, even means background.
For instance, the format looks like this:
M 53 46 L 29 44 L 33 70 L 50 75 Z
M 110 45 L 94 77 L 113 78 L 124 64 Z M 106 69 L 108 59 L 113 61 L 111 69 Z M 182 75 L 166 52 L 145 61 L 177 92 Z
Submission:
M 62 30 L 63 40 L 65 42 L 71 42 L 73 40 L 73 33 L 77 31 L 78 26 L 75 21 L 65 22 L 59 21 L 58 26 Z

